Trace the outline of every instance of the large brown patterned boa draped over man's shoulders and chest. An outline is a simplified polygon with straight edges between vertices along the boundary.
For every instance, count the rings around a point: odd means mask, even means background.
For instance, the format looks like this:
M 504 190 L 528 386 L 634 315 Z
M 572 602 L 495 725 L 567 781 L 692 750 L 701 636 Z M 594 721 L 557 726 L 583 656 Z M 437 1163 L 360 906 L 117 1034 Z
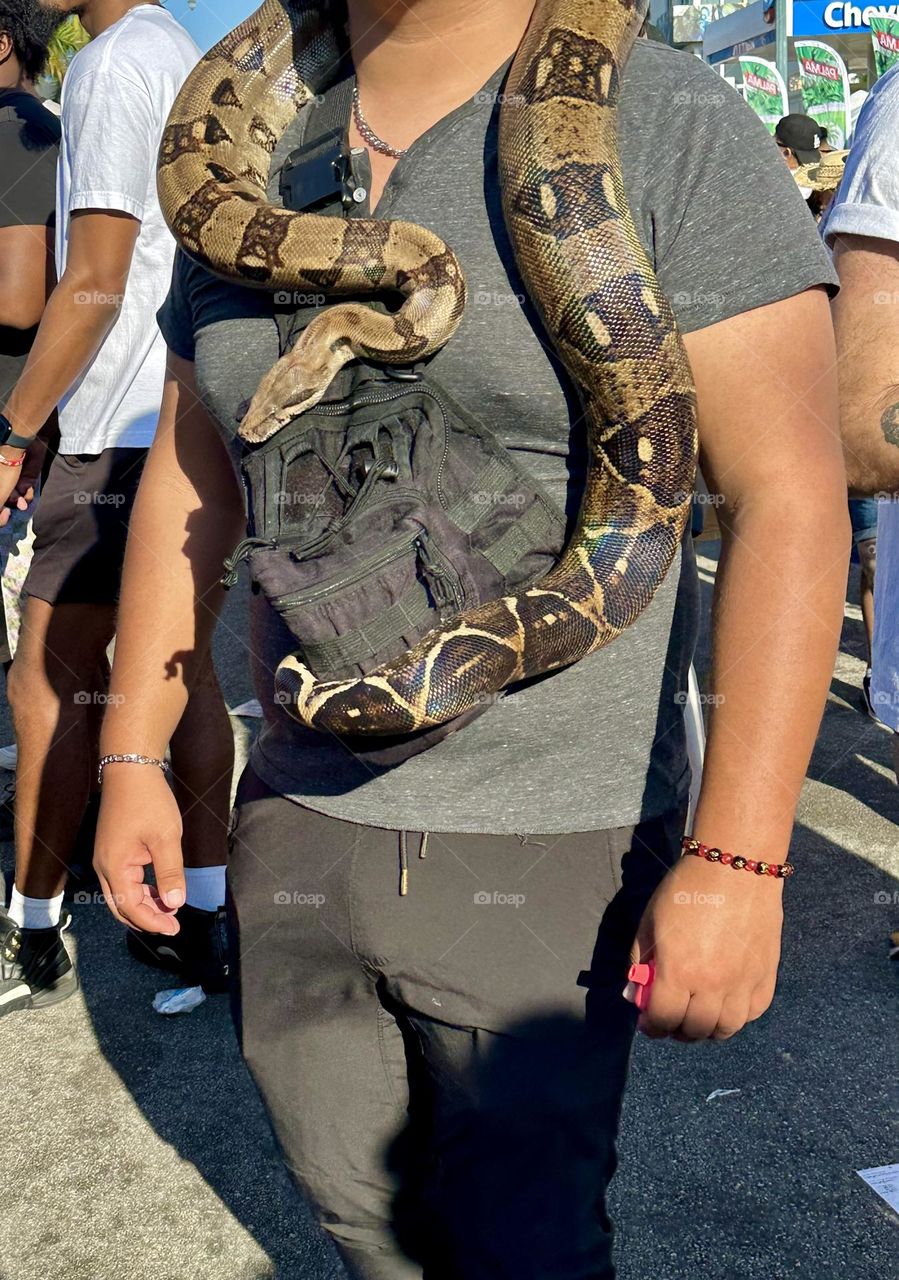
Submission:
M 318 681 L 298 655 L 284 659 L 279 687 L 310 727 L 394 735 L 446 723 L 608 644 L 671 566 L 693 493 L 695 396 L 628 207 L 616 136 L 644 12 L 645 0 L 538 0 L 501 106 L 506 224 L 584 408 L 590 463 L 569 544 L 538 584 L 471 608 L 365 677 Z M 338 302 L 318 316 L 260 384 L 241 426 L 251 442 L 315 404 L 355 356 L 407 364 L 438 349 L 465 307 L 460 264 L 432 232 L 266 197 L 274 146 L 333 70 L 342 31 L 329 0 L 266 0 L 190 77 L 160 152 L 169 225 L 218 275 L 403 298 L 392 315 Z

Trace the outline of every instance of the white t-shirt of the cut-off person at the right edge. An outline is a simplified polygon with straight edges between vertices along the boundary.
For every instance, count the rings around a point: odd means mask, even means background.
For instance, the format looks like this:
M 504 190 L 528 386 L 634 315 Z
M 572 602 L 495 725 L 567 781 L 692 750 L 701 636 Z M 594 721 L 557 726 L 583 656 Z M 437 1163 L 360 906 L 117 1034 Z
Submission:
M 846 172 L 823 227 L 832 247 L 840 234 L 899 243 L 899 67 L 877 81 L 862 108 Z M 876 294 L 875 294 L 876 297 Z M 885 306 L 894 324 L 895 307 Z M 896 334 L 899 340 L 899 334 Z M 899 731 L 899 502 L 877 507 L 877 570 L 871 700 L 879 718 Z

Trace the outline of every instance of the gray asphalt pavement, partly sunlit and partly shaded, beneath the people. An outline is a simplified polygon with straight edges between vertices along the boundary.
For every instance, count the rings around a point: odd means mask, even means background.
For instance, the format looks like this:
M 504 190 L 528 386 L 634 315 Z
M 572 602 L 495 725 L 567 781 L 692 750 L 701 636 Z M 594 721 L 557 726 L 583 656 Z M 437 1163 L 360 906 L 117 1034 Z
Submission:
M 699 547 L 706 589 L 715 549 Z M 251 696 L 243 605 L 216 640 L 231 705 Z M 848 605 L 775 1007 L 727 1044 L 638 1046 L 612 1197 L 620 1280 L 895 1275 L 899 1220 L 854 1172 L 899 1161 L 899 800 L 889 735 L 859 710 L 862 646 Z M 165 982 L 102 905 L 74 908 L 73 936 L 82 993 L 0 1023 L 0 1280 L 342 1276 L 280 1169 L 227 1001 L 161 1018 Z

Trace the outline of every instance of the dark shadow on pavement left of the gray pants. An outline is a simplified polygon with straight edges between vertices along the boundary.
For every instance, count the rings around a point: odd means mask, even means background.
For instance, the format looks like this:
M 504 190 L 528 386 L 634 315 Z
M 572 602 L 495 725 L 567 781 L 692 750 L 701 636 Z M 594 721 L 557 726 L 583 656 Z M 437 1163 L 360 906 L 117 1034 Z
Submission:
M 152 996 L 175 983 L 126 952 L 105 906 L 76 906 L 73 932 L 99 1050 L 155 1133 L 265 1251 L 273 1263 L 266 1277 L 339 1280 L 339 1262 L 283 1170 L 227 997 L 210 997 L 187 1016 L 161 1016 Z M 191 1230 L 190 1217 L 183 1228 Z

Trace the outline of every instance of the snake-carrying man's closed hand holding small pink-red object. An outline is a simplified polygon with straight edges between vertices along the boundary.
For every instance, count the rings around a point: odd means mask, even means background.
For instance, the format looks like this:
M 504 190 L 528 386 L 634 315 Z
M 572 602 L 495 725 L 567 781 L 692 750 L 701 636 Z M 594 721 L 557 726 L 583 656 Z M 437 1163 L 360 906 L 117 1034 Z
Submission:
M 773 998 L 784 881 L 681 858 L 649 900 L 634 961 L 656 975 L 638 1028 L 652 1038 L 729 1039 Z

